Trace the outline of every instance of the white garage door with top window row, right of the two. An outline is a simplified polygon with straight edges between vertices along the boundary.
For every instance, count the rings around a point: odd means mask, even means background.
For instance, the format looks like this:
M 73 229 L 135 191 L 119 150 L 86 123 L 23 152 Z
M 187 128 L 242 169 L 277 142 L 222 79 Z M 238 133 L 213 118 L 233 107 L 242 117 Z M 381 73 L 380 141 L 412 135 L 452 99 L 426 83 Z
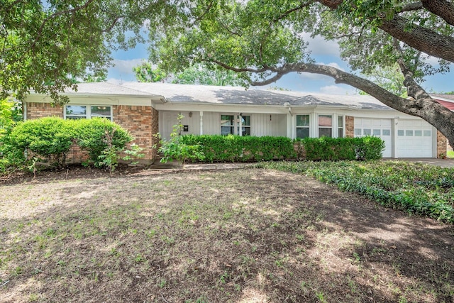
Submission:
M 399 158 L 432 158 L 432 126 L 422 120 L 399 120 L 397 156 Z

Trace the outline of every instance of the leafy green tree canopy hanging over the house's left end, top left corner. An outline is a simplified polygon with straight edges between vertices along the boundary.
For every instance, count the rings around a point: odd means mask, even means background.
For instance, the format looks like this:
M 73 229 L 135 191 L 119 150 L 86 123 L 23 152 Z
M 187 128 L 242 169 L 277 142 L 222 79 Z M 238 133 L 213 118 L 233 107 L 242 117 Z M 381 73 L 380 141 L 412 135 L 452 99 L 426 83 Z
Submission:
M 74 79 L 104 77 L 111 50 L 143 42 L 143 23 L 172 15 L 166 8 L 163 1 L 1 0 L 0 99 L 23 100 L 33 89 L 67 102 L 59 92 L 76 89 Z

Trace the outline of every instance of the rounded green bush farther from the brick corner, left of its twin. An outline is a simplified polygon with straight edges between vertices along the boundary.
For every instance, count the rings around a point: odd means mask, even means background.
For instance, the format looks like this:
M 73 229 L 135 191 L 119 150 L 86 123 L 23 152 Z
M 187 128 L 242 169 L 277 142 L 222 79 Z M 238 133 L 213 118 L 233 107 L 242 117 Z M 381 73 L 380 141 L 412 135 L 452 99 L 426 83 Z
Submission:
M 26 156 L 63 165 L 70 150 L 74 129 L 60 118 L 42 118 L 18 123 L 5 141 L 7 157 L 12 162 L 25 162 Z M 24 152 L 26 154 L 24 155 Z

